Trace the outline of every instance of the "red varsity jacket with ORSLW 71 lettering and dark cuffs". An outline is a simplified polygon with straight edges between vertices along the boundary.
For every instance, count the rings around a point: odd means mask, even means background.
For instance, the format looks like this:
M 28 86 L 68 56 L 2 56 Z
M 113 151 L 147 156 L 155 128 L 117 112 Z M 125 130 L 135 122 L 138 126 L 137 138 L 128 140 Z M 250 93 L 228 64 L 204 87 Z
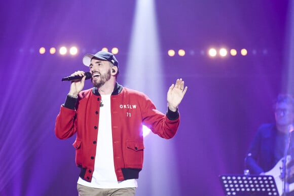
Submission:
M 97 88 L 67 96 L 56 118 L 55 135 L 66 139 L 77 133 L 76 164 L 80 177 L 91 181 L 94 171 L 101 96 Z M 172 138 L 179 126 L 179 113 L 158 111 L 143 93 L 116 83 L 111 96 L 115 172 L 118 181 L 138 178 L 143 165 L 142 124 L 162 138 Z

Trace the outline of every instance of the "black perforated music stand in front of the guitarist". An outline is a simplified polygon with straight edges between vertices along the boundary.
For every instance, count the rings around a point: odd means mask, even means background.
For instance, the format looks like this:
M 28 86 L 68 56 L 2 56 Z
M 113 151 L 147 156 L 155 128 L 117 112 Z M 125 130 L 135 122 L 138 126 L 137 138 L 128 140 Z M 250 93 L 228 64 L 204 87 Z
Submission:
M 220 175 L 219 180 L 226 196 L 279 195 L 273 176 Z

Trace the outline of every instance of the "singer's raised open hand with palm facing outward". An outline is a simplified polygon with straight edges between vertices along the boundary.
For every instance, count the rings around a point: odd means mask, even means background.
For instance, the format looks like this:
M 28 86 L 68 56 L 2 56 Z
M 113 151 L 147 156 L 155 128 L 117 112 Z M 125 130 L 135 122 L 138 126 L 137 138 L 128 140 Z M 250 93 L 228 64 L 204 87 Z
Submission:
M 184 82 L 182 79 L 177 79 L 175 85 L 172 84 L 167 92 L 168 108 L 171 111 L 176 111 L 183 96 L 186 94 L 188 87 L 184 88 Z

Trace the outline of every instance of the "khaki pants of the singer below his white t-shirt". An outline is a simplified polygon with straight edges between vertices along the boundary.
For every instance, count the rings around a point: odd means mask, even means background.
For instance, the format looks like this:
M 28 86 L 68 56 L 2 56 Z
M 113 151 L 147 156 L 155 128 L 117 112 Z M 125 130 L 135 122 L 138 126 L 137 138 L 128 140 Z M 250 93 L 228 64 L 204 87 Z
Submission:
M 77 185 L 79 196 L 134 196 L 136 188 L 92 188 Z

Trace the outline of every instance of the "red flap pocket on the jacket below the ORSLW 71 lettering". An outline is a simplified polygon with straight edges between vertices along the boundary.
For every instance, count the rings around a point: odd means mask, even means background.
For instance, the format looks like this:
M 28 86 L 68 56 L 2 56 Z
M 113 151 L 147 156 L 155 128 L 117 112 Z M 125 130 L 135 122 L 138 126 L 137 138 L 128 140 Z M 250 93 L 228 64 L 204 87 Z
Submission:
M 142 141 L 127 141 L 126 166 L 142 168 L 144 144 Z

